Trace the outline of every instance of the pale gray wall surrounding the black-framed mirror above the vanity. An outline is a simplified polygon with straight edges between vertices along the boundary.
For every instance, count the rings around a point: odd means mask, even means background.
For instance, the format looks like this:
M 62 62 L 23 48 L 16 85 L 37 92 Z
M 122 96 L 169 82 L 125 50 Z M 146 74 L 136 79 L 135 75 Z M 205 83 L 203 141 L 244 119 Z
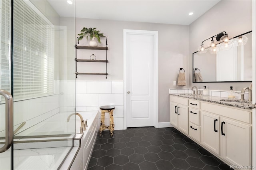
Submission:
M 203 40 L 220 32 L 226 31 L 231 37 L 252 30 L 252 1 L 251 0 L 222 0 L 208 12 L 189 25 L 189 86 L 206 85 L 212 90 L 241 91 L 250 83 L 192 83 L 192 53 L 197 51 Z M 228 63 L 227 63 L 228 65 Z

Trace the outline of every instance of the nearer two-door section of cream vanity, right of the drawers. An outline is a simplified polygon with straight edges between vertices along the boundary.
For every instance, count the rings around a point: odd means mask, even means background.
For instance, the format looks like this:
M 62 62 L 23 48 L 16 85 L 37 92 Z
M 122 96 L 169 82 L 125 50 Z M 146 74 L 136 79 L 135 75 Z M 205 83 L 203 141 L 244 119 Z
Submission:
M 232 165 L 249 167 L 251 112 L 202 102 L 201 109 L 201 144 Z

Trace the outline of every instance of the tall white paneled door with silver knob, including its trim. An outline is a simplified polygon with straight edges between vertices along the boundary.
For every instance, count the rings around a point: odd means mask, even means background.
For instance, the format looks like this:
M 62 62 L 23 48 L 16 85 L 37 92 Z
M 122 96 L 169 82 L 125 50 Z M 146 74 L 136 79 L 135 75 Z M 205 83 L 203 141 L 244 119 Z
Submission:
M 158 68 L 154 65 L 155 35 L 140 31 L 140 33 L 127 33 L 125 37 L 126 127 L 156 126 L 158 79 L 155 73 L 158 73 L 156 70 Z

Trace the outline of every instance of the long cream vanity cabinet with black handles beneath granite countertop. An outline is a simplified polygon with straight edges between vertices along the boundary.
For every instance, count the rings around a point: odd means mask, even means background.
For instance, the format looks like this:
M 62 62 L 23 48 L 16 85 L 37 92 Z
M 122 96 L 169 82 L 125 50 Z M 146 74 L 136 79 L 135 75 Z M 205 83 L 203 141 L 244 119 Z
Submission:
M 170 95 L 170 123 L 228 165 L 251 169 L 251 110 Z

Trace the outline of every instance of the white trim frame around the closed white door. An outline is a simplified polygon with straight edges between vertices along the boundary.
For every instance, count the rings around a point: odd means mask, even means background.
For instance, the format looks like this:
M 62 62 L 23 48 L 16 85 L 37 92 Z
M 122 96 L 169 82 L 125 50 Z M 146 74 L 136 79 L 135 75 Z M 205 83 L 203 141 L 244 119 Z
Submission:
M 126 41 L 128 34 L 152 35 L 154 36 L 154 127 L 158 128 L 158 31 L 146 30 L 126 30 L 124 29 L 124 129 L 127 129 L 127 112 L 126 112 Z

